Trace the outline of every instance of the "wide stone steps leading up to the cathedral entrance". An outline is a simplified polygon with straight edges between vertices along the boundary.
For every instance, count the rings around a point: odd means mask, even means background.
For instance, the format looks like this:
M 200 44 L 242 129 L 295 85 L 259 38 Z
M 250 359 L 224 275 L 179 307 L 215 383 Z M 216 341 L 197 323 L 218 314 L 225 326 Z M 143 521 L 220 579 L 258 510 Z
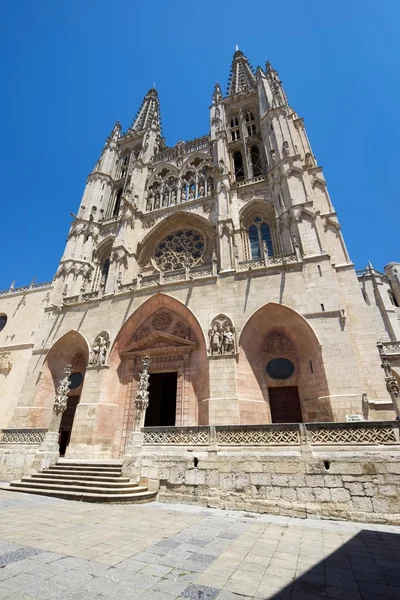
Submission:
M 151 502 L 156 492 L 122 477 L 119 461 L 70 461 L 61 459 L 49 469 L 11 481 L 10 492 L 40 494 L 82 502 Z

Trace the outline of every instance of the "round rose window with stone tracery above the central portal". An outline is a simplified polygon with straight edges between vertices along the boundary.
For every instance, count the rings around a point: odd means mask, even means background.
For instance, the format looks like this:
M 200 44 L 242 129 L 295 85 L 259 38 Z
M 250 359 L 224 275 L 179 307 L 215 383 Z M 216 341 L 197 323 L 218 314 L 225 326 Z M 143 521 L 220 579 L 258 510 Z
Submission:
M 189 229 L 181 229 L 164 238 L 156 247 L 154 261 L 160 271 L 176 271 L 202 262 L 204 237 Z

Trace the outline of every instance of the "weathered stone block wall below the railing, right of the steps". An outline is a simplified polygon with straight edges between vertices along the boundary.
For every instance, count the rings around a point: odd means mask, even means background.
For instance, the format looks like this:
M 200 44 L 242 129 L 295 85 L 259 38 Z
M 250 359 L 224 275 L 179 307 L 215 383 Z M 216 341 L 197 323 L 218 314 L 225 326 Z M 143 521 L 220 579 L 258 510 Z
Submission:
M 400 524 L 400 449 L 144 447 L 125 473 L 163 502 Z

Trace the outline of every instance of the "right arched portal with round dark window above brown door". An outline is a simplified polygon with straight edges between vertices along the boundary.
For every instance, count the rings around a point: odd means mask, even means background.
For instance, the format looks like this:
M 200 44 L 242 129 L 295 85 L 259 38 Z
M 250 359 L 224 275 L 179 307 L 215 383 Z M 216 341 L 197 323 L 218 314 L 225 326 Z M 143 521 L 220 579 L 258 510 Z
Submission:
M 243 327 L 239 345 L 246 422 L 333 420 L 321 346 L 296 311 L 265 304 Z

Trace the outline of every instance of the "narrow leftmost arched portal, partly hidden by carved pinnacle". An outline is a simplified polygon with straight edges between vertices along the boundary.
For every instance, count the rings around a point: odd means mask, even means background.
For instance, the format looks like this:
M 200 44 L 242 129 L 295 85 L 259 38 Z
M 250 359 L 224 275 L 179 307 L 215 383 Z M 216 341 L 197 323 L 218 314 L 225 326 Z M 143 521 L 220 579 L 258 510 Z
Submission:
M 67 408 L 64 411 L 59 427 L 60 454 L 63 456 L 68 447 L 73 429 L 75 411 L 78 406 L 85 381 L 86 365 L 88 364 L 89 347 L 86 339 L 77 331 L 63 335 L 50 349 L 36 397 L 36 404 L 45 406 L 48 410 L 48 423 L 53 416 L 53 405 L 57 388 L 65 376 L 65 367 L 71 365 L 70 391 Z

